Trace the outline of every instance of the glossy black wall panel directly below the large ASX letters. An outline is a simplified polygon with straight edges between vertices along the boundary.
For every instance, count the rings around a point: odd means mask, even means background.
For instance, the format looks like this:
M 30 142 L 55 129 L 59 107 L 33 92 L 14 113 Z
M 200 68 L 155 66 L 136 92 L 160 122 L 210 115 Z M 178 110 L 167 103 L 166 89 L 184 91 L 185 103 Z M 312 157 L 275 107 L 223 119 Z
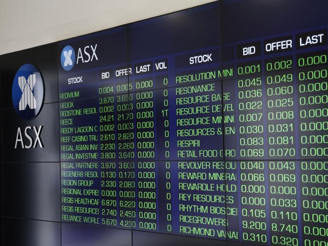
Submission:
M 5 216 L 60 222 L 59 163 L 4 163 L 3 166 Z

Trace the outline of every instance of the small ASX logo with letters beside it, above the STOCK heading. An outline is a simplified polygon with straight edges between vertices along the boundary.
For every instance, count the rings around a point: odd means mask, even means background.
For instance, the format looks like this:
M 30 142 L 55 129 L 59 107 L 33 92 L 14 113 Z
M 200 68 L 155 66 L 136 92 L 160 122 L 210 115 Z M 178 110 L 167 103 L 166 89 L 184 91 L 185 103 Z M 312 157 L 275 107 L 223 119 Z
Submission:
M 72 46 L 67 45 L 63 48 L 62 54 L 61 54 L 61 64 L 64 70 L 70 71 L 73 69 L 76 64 L 80 63 L 89 63 L 89 61 L 98 60 L 96 49 L 97 45 L 87 45 L 83 48 L 78 49 L 77 57 L 75 55 L 75 51 Z M 75 60 L 76 59 L 76 60 Z

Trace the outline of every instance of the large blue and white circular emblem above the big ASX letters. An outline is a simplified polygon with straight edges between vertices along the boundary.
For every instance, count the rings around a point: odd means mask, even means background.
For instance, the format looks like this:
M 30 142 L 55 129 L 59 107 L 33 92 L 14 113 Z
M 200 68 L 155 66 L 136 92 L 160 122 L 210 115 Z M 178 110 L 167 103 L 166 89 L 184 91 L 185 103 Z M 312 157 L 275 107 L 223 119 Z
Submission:
M 44 86 L 40 71 L 32 64 L 25 64 L 17 71 L 12 89 L 14 108 L 25 120 L 35 118 L 43 105 Z

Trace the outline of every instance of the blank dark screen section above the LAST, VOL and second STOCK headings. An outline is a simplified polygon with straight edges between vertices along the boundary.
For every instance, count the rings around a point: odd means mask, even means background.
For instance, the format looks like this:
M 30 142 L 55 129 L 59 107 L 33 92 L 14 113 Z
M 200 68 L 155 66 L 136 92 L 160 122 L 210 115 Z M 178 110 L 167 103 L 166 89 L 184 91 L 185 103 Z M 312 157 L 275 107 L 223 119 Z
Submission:
M 129 64 L 220 45 L 220 5 L 218 1 L 130 24 Z

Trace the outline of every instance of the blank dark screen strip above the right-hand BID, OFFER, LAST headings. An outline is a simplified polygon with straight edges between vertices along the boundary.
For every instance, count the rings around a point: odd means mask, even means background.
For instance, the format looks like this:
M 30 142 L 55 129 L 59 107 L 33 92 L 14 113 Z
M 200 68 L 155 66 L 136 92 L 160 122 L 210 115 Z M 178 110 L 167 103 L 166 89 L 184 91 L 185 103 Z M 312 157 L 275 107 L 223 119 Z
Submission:
M 293 32 L 327 23 L 325 0 L 220 2 L 223 44 Z

